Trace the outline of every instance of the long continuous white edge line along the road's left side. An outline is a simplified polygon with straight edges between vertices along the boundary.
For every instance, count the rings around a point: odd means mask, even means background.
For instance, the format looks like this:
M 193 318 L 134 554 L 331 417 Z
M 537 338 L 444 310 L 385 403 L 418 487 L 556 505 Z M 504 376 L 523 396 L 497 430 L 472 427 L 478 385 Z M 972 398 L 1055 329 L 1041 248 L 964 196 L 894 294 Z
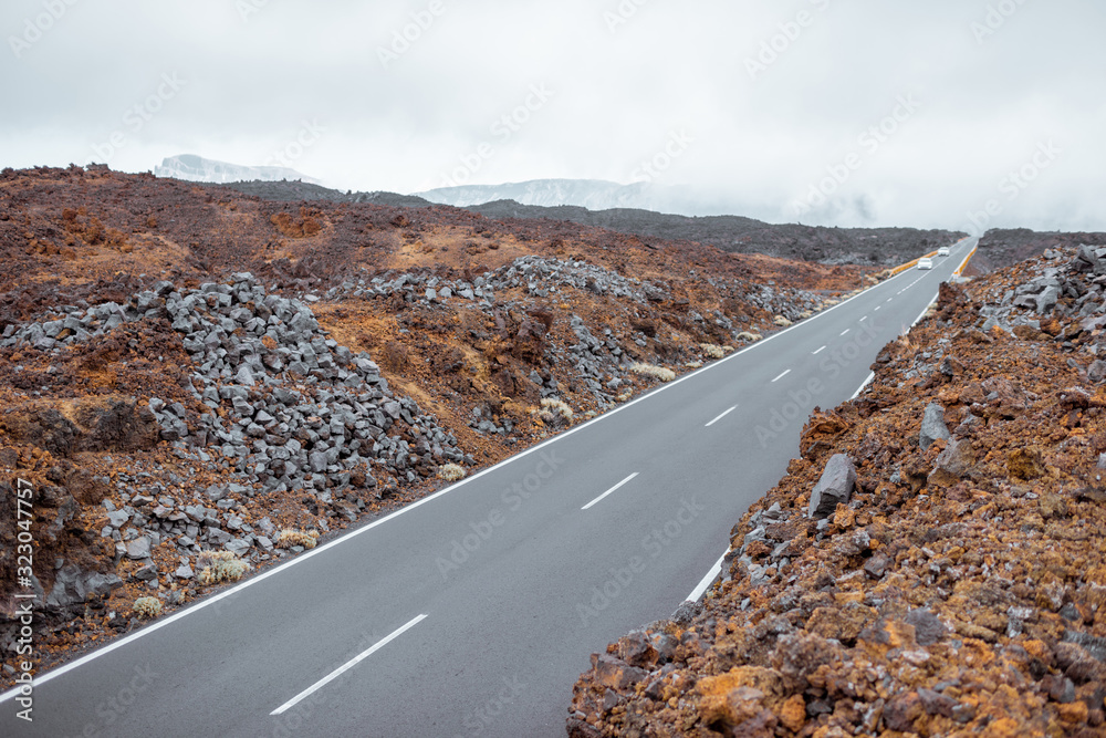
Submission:
M 195 603 L 192 605 L 189 605 L 189 606 L 185 607 L 184 610 L 177 611 L 176 613 L 169 615 L 168 617 L 155 621 L 154 623 L 152 623 L 150 625 L 147 625 L 146 627 L 142 628 L 140 631 L 138 631 L 136 633 L 132 633 L 131 635 L 124 636 L 124 637 L 122 637 L 122 638 L 119 638 L 117 641 L 113 641 L 112 643 L 108 643 L 107 645 L 104 645 L 104 646 L 97 648 L 96 651 L 93 651 L 92 653 L 85 654 L 84 656 L 82 656 L 81 658 L 77 658 L 76 661 L 72 661 L 69 664 L 64 664 L 62 666 L 59 666 L 58 668 L 52 669 L 50 672 L 46 672 L 45 674 L 43 674 L 41 676 L 36 675 L 34 677 L 34 684 L 36 686 L 45 684 L 46 682 L 50 682 L 51 679 L 53 679 L 55 677 L 62 676 L 63 674 L 66 674 L 66 673 L 73 671 L 75 668 L 84 666 L 85 664 L 87 664 L 88 662 L 91 662 L 91 661 L 93 661 L 95 658 L 100 658 L 101 656 L 105 656 L 105 655 L 112 653 L 113 651 L 115 651 L 116 648 L 122 648 L 123 646 L 127 645 L 128 643 L 131 643 L 133 641 L 137 641 L 138 638 L 142 638 L 142 637 L 144 637 L 146 635 L 149 635 L 150 633 L 154 633 L 155 631 L 159 631 L 163 627 L 165 627 L 166 625 L 175 623 L 176 621 L 180 620 L 181 617 L 185 617 L 187 615 L 191 615 L 192 613 L 197 613 L 197 612 L 204 610 L 205 607 L 210 607 L 211 605 L 213 605 L 215 603 L 219 602 L 220 600 L 225 600 L 227 597 L 233 596 L 234 594 L 238 594 L 242 590 L 244 590 L 247 588 L 250 588 L 250 586 L 253 586 L 254 584 L 258 584 L 259 582 L 263 582 L 264 580 L 269 579 L 270 576 L 273 576 L 274 574 L 278 574 L 278 573 L 284 571 L 285 569 L 288 569 L 290 567 L 295 567 L 298 564 L 301 564 L 304 561 L 307 561 L 309 559 L 311 559 L 312 557 L 316 557 L 316 555 L 321 554 L 323 551 L 326 551 L 327 549 L 330 549 L 332 547 L 335 547 L 335 545 L 337 545 L 340 543 L 343 543 L 343 542 L 349 540 L 351 538 L 354 538 L 356 536 L 361 536 L 363 533 L 367 533 L 368 531 L 373 530 L 377 526 L 383 526 L 384 523 L 388 522 L 393 518 L 398 518 L 399 516 L 406 514 L 406 513 L 410 512 L 411 510 L 426 505 L 430 500 L 434 500 L 434 499 L 436 499 L 438 497 L 441 497 L 442 495 L 448 495 L 449 492 L 456 491 L 456 490 L 460 489 L 461 487 L 468 485 L 469 482 L 472 482 L 472 481 L 479 479 L 480 477 L 483 477 L 484 475 L 488 475 L 488 474 L 491 474 L 492 471 L 495 471 L 500 467 L 504 467 L 504 466 L 507 466 L 509 464 L 513 464 L 513 462 L 515 462 L 515 461 L 518 461 L 520 459 L 523 459 L 523 458 L 530 456 L 531 454 L 536 454 L 538 451 L 540 451 L 541 449 L 545 448 L 546 446 L 555 444 L 556 441 L 559 441 L 559 440 L 561 440 L 563 438 L 567 438 L 568 436 L 583 430 L 584 428 L 591 426 L 594 423 L 601 423 L 602 420 L 605 420 L 608 417 L 617 415 L 618 413 L 622 413 L 623 410 L 628 409 L 628 408 L 633 407 L 634 405 L 637 405 L 638 403 L 645 402 L 646 399 L 648 399 L 649 397 L 653 397 L 656 394 L 660 394 L 661 392 L 665 392 L 666 389 L 670 389 L 671 387 L 675 387 L 676 385 L 678 385 L 678 384 L 680 384 L 682 382 L 687 382 L 688 380 L 690 380 L 693 376 L 697 376 L 697 375 L 699 375 L 699 374 L 701 374 L 703 372 L 709 372 L 711 370 L 714 370 L 714 368 L 721 366 L 722 364 L 737 358 L 738 356 L 744 354 L 745 352 L 754 351 L 754 350 L 757 350 L 757 349 L 759 349 L 759 347 L 761 347 L 761 346 L 770 343 L 771 341 L 773 341 L 775 339 L 779 339 L 784 333 L 787 333 L 790 331 L 794 331 L 794 330 L 800 329 L 800 328 L 805 328 L 805 326 L 810 325 L 811 323 L 813 323 L 814 321 L 816 321 L 820 318 L 822 318 L 823 315 L 827 315 L 827 314 L 832 313 L 833 311 L 837 310 L 838 308 L 842 308 L 842 306 L 848 304 L 853 300 L 857 300 L 859 298 L 866 297 L 868 294 L 868 292 L 870 292 L 873 290 L 878 290 L 879 288 L 884 287 L 885 284 L 891 284 L 893 282 L 895 282 L 895 280 L 897 280 L 898 278 L 902 277 L 902 274 L 907 274 L 907 273 L 909 273 L 909 272 L 907 272 L 907 271 L 899 272 L 895 277 L 891 277 L 890 279 L 884 280 L 879 284 L 874 284 L 873 287 L 868 288 L 867 290 L 864 290 L 863 292 L 858 292 L 857 294 L 854 294 L 852 298 L 848 298 L 846 300 L 842 300 L 837 304 L 832 305 L 828 310 L 823 310 L 822 312 L 817 313 L 816 315 L 811 316 L 807 320 L 804 320 L 804 321 L 801 321 L 799 323 L 795 323 L 794 325 L 785 328 L 785 329 L 783 329 L 782 331 L 780 331 L 778 333 L 773 333 L 772 335 L 768 336 L 763 341 L 758 341 L 757 343 L 751 343 L 748 346 L 745 346 L 744 349 L 741 349 L 740 351 L 734 351 L 732 354 L 730 354 L 726 358 L 720 358 L 717 362 L 711 362 L 710 364 L 707 364 L 706 366 L 703 366 L 700 370 L 696 370 L 695 372 L 690 372 L 689 374 L 685 374 L 684 376 L 681 376 L 681 377 L 679 377 L 679 378 L 677 378 L 677 380 L 675 380 L 672 382 L 665 383 L 661 386 L 659 386 L 656 389 L 654 389 L 653 392 L 646 393 L 646 394 L 641 395 L 640 397 L 632 399 L 628 403 L 626 403 L 625 405 L 619 405 L 618 407 L 615 407 L 614 409 L 607 410 L 603 415 L 599 415 L 597 417 L 592 418 L 587 423 L 584 423 L 582 425 L 577 425 L 577 426 L 574 426 L 572 428 L 568 428 L 564 433 L 557 434 L 556 436 L 553 436 L 552 438 L 549 438 L 547 440 L 544 440 L 544 441 L 538 444 L 536 446 L 531 446 L 530 448 L 528 448 L 528 449 L 525 449 L 523 451 L 519 451 L 518 454 L 515 454 L 511 458 L 503 459 L 499 464 L 495 464 L 493 466 L 488 467 L 487 469 L 478 471 L 477 474 L 472 475 L 471 477 L 466 477 L 465 479 L 461 479 L 460 481 L 458 481 L 458 482 L 456 482 L 456 484 L 453 484 L 453 485 L 451 485 L 449 487 L 446 487 L 445 489 L 438 490 L 434 495 L 430 495 L 428 497 L 424 497 L 422 499 L 420 499 L 420 500 L 418 500 L 416 502 L 411 502 L 410 505 L 408 505 L 406 507 L 399 508 L 395 512 L 390 512 L 387 516 L 380 518 L 379 520 L 374 520 L 374 521 L 372 521 L 369 523 L 366 523 L 366 524 L 364 524 L 364 526 L 362 526 L 359 528 L 351 530 L 351 531 L 346 532 L 345 534 L 340 536 L 338 538 L 335 538 L 333 541 L 324 543 L 323 545 L 317 545 L 317 547 L 311 549 L 310 551 L 304 551 L 303 553 L 301 553 L 300 555 L 295 557 L 291 561 L 282 563 L 279 567 L 274 567 L 273 569 L 269 569 L 268 571 L 264 571 L 264 572 L 258 574 L 257 576 L 251 576 L 250 579 L 246 580 L 244 582 L 241 582 L 240 584 L 236 584 L 234 586 L 232 586 L 232 588 L 230 588 L 228 590 L 223 590 L 222 592 L 220 592 L 220 593 L 218 593 L 216 595 L 212 595 L 212 596 L 207 597 L 205 600 L 200 600 L 199 602 L 197 602 L 197 603 Z M 9 689 L 8 692 L 6 692 L 3 694 L 0 694 L 0 705 L 2 705 L 3 703 L 8 701 L 9 699 L 13 699 L 19 694 L 20 694 L 20 687 L 14 687 L 14 688 Z

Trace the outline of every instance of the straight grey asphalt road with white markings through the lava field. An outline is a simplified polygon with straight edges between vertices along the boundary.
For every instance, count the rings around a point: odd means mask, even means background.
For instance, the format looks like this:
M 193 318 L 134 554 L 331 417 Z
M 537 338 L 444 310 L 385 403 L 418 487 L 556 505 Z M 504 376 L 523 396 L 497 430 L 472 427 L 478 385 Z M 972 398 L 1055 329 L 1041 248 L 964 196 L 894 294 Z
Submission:
M 0 735 L 564 736 L 973 246 L 41 676 L 33 723 L 0 696 Z

